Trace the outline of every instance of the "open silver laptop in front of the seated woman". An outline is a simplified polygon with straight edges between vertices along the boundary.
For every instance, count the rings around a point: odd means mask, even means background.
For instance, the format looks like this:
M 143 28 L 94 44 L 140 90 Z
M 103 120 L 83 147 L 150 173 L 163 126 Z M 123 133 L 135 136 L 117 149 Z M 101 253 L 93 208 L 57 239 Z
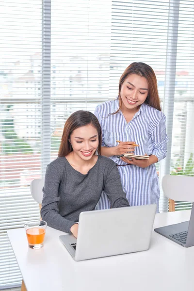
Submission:
M 81 212 L 78 238 L 59 238 L 76 261 L 149 248 L 156 204 Z

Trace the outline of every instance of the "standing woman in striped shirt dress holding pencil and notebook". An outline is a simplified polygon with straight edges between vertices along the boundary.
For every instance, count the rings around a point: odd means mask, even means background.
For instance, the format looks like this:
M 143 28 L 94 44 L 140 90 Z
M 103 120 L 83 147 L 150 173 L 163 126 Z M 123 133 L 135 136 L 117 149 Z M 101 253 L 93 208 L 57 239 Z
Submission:
M 159 212 L 155 163 L 165 158 L 168 138 L 153 69 L 144 63 L 129 65 L 120 78 L 118 97 L 98 105 L 95 115 L 102 128 L 102 155 L 117 163 L 130 206 L 156 203 Z M 117 158 L 126 152 L 149 159 Z M 96 209 L 106 208 L 110 203 L 103 193 Z

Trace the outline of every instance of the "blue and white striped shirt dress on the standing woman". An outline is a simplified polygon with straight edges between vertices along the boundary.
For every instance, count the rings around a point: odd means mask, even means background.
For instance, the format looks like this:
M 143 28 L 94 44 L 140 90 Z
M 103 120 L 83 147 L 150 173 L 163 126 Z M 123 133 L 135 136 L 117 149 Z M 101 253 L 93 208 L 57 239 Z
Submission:
M 127 123 L 121 111 L 116 114 L 109 114 L 117 111 L 118 107 L 119 100 L 117 98 L 98 105 L 95 110 L 95 115 L 102 128 L 102 146 L 117 146 L 116 140 L 133 141 L 140 145 L 135 147 L 135 154 L 155 155 L 158 161 L 164 159 L 168 142 L 165 115 L 143 103 L 140 110 Z M 116 156 L 112 156 L 110 159 L 117 164 L 125 164 Z M 135 206 L 156 203 L 157 212 L 159 212 L 160 191 L 155 164 L 146 168 L 130 164 L 119 167 L 118 170 L 129 204 Z M 110 203 L 106 194 L 102 193 L 96 209 L 107 208 L 110 208 Z

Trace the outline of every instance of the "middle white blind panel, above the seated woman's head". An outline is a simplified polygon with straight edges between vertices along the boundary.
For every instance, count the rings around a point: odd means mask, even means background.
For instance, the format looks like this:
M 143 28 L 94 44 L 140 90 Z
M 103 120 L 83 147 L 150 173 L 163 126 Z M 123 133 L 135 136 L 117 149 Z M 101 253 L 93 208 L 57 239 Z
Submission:
M 111 0 L 51 2 L 51 158 L 67 117 L 109 98 Z

